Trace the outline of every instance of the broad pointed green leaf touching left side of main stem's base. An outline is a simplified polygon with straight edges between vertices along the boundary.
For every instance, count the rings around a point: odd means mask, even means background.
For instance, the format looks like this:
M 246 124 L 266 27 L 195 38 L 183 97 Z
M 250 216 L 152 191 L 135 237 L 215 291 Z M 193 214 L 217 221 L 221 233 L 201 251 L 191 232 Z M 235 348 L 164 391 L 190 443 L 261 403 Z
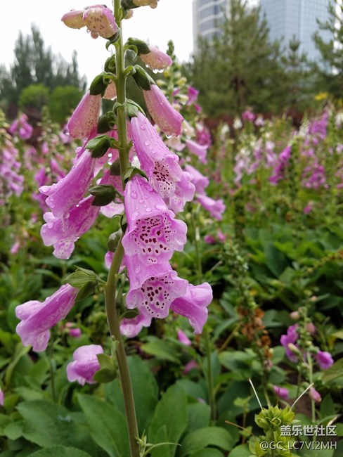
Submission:
M 86 414 L 89 433 L 110 457 L 129 456 L 125 417 L 114 406 L 91 395 L 77 396 Z

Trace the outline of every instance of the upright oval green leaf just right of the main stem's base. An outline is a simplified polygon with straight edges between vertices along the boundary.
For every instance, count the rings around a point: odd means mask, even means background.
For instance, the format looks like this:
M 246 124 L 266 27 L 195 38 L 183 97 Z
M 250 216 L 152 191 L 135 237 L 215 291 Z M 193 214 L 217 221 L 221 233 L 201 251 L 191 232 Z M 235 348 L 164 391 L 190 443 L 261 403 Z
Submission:
M 187 426 L 187 397 L 186 392 L 179 385 L 172 385 L 162 395 L 158 402 L 153 420 L 151 421 L 148 439 L 150 443 L 157 444 L 159 431 L 162 425 L 167 429 L 167 437 L 163 441 L 179 443 L 179 439 Z M 153 451 L 153 457 L 173 457 L 176 446 L 163 446 Z

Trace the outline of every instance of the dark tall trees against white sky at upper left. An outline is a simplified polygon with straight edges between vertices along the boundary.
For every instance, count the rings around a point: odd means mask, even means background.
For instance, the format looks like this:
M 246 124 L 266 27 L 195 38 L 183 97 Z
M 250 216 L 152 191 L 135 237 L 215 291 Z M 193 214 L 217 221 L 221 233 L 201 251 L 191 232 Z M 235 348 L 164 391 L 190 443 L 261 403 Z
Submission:
M 0 67 L 1 106 L 9 117 L 15 117 L 20 95 L 28 86 L 42 84 L 49 93 L 57 86 L 68 85 L 78 89 L 85 87 L 84 77 L 79 77 L 76 52 L 73 53 L 71 63 L 67 63 L 62 56 L 53 54 L 50 47 L 45 48 L 44 40 L 35 25 L 31 26 L 31 35 L 24 37 L 22 32 L 19 33 L 14 55 L 15 60 L 9 70 L 4 65 Z M 30 89 L 28 95 L 32 98 L 34 94 L 37 102 L 41 89 Z M 27 92 L 24 94 L 25 101 L 28 95 Z

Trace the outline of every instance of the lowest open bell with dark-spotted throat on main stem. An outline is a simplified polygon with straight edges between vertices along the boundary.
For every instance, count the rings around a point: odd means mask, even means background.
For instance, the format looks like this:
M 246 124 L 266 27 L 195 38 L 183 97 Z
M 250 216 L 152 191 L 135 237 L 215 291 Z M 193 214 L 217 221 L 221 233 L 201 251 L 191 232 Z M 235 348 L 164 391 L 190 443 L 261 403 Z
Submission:
M 180 279 L 176 271 L 169 266 L 156 276 L 147 278 L 137 288 L 133 288 L 130 279 L 130 290 L 127 294 L 127 307 L 138 308 L 139 313 L 148 318 L 164 318 L 168 316 L 169 307 L 176 298 L 186 294 L 188 281 Z

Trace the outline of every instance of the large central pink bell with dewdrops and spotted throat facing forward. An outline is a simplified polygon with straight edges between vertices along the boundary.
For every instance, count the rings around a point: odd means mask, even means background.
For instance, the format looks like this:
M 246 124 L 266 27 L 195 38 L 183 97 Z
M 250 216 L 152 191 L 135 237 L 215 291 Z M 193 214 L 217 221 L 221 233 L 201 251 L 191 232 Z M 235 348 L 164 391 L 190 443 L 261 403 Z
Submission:
M 142 176 L 134 176 L 124 192 L 127 231 L 122 240 L 131 288 L 146 278 L 169 271 L 174 251 L 183 250 L 187 226 L 174 219 L 158 195 Z

